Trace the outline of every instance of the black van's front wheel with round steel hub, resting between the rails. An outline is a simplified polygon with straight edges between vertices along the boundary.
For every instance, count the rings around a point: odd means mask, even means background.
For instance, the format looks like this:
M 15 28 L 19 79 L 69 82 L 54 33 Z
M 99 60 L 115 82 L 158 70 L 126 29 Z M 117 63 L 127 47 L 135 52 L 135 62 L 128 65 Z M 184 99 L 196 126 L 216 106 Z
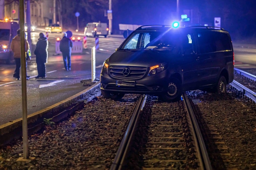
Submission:
M 176 102 L 181 99 L 182 86 L 180 80 L 172 77 L 168 84 L 168 90 L 160 98 L 166 102 Z

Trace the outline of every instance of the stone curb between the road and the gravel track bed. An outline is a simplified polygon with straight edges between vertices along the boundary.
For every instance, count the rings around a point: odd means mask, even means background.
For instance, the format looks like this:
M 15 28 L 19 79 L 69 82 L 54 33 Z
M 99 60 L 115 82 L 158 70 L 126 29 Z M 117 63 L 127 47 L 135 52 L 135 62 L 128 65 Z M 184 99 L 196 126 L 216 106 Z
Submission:
M 44 127 L 44 118 L 52 118 L 52 121 L 58 122 L 83 108 L 84 103 L 87 103 L 100 95 L 100 82 L 97 82 L 78 94 L 49 106 L 48 108 L 28 115 L 28 135 L 31 135 Z M 21 136 L 22 118 L 0 125 L 0 146 L 6 145 Z

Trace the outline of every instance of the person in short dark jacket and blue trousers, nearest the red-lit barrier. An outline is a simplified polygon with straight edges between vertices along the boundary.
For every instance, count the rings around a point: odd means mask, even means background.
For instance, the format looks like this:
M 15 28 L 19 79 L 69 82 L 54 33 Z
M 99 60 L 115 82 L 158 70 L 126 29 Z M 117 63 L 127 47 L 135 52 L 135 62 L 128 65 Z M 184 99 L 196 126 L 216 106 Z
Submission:
M 73 43 L 70 38 L 67 37 L 67 33 L 63 32 L 63 38 L 59 42 L 59 50 L 62 52 L 64 67 L 66 71 L 71 70 L 71 48 Z M 67 63 L 68 60 L 68 63 Z

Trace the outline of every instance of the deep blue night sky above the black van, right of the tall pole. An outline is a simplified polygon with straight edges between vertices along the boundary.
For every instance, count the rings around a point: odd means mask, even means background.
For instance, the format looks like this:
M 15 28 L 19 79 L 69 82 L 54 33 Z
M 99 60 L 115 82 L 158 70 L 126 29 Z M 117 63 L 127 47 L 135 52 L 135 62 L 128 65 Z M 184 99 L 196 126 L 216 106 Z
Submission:
M 118 24 L 167 24 L 176 13 L 176 0 L 129 0 L 115 3 L 112 0 L 113 28 Z M 255 0 L 179 0 L 180 14 L 188 14 L 193 23 L 187 25 L 214 26 L 214 17 L 221 18 L 221 27 L 234 39 L 256 38 Z M 185 13 L 184 12 L 187 12 Z M 192 11 L 192 16 L 191 16 Z M 191 21 L 190 21 L 191 22 Z

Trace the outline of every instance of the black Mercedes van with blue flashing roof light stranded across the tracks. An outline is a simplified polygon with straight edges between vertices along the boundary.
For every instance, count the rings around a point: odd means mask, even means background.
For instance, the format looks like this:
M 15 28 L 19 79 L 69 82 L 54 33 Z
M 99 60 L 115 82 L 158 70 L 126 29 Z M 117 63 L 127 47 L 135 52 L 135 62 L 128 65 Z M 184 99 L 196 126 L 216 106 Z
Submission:
M 233 76 L 233 45 L 225 29 L 146 25 L 103 63 L 100 88 L 105 98 L 131 93 L 177 101 L 187 90 L 226 93 Z

